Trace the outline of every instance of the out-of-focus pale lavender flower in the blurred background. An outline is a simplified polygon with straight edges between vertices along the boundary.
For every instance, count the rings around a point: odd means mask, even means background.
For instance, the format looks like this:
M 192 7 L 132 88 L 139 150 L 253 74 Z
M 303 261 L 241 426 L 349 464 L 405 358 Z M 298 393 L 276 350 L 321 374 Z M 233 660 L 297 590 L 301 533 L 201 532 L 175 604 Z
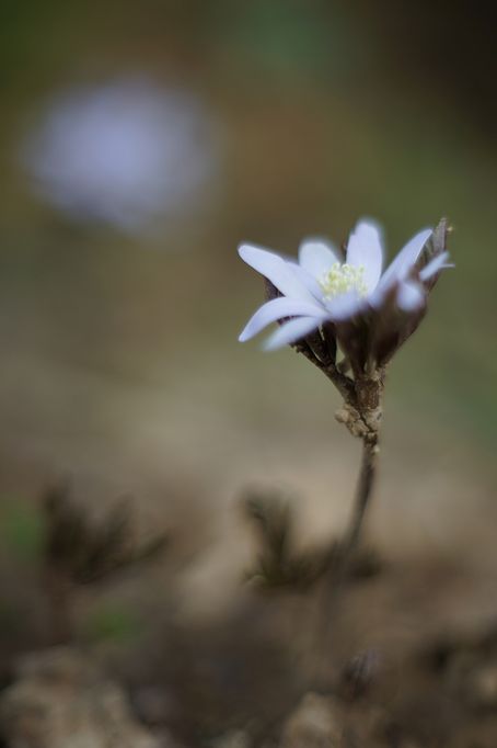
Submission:
M 128 230 L 189 213 L 216 167 L 200 102 L 142 79 L 57 98 L 27 139 L 23 160 L 56 207 Z

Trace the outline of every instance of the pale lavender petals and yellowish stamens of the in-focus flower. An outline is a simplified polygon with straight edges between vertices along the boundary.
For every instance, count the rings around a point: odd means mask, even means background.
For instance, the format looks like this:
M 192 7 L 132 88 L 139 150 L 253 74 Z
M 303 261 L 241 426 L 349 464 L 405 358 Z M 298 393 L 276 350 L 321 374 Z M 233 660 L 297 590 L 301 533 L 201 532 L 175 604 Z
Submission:
M 432 229 L 414 236 L 382 274 L 381 230 L 360 220 L 350 235 L 346 257 L 331 242 L 307 239 L 299 260 L 286 260 L 253 245 L 242 245 L 242 260 L 264 275 L 281 294 L 266 302 L 248 320 L 239 340 L 256 336 L 270 322 L 285 321 L 266 341 L 274 350 L 333 322 L 339 330 L 347 322 L 368 320 L 394 299 L 395 308 L 414 317 L 424 310 L 434 279 L 447 265 L 448 252 L 435 253 L 419 269 L 423 249 Z M 345 259 L 345 262 L 344 262 Z

